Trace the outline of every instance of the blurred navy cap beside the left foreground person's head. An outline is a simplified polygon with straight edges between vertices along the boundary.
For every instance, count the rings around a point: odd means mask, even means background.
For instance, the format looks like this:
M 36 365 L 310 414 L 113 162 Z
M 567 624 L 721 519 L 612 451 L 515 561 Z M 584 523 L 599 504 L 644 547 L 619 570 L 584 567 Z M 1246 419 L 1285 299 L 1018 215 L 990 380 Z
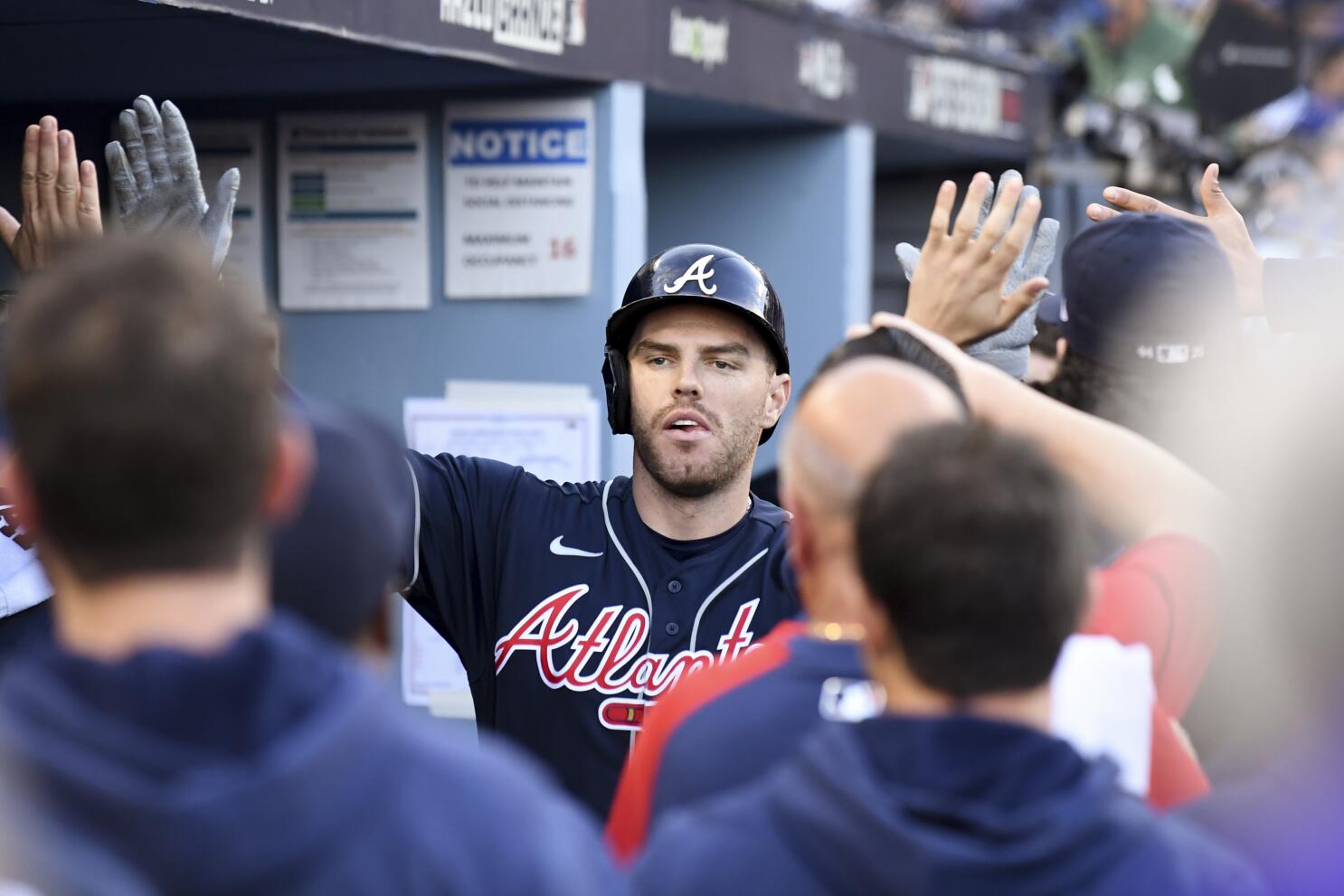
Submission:
M 401 443 L 337 404 L 290 399 L 317 462 L 302 510 L 271 533 L 271 602 L 337 641 L 374 619 L 411 539 L 415 498 Z

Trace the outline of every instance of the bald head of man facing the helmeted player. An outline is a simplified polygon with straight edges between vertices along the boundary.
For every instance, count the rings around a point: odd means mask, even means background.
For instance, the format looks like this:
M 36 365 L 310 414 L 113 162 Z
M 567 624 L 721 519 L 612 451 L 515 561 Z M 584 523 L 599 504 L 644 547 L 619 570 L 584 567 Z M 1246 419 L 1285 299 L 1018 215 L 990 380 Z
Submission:
M 864 480 L 896 437 L 961 419 L 965 410 L 952 390 L 914 364 L 847 361 L 802 398 L 780 463 L 784 488 L 813 513 L 848 519 Z

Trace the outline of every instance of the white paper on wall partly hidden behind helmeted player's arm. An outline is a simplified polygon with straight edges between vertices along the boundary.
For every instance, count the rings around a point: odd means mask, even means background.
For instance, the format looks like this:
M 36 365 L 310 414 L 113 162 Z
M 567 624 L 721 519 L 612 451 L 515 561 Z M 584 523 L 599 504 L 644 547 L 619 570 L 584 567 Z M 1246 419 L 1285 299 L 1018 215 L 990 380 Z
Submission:
M 406 443 L 425 454 L 465 454 L 513 463 L 556 482 L 598 477 L 598 404 L 586 390 L 573 400 L 536 400 L 526 383 L 450 386 L 449 399 L 406 399 Z M 548 392 L 551 394 L 551 392 Z M 485 398 L 489 400 L 482 400 Z M 512 399 L 512 400 L 511 400 Z M 402 606 L 402 697 L 437 715 L 469 715 L 466 670 L 434 629 Z

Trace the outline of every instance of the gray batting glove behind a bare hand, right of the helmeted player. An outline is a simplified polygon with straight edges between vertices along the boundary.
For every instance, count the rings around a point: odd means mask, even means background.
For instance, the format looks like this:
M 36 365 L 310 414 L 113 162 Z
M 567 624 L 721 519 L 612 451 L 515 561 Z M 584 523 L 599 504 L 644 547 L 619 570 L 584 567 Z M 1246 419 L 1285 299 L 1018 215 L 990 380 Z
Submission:
M 999 177 L 999 191 L 1008 184 L 1011 180 L 1021 180 L 1021 175 L 1013 169 L 1005 171 Z M 995 204 L 995 193 L 997 191 L 991 187 L 985 193 L 985 201 L 980 208 L 980 222 L 976 224 L 976 232 L 984 226 L 985 219 L 989 216 L 989 211 Z M 1039 196 L 1040 192 L 1035 187 L 1025 187 L 1021 191 L 1021 196 L 1017 200 L 1017 208 L 1027 200 L 1028 196 Z M 1013 211 L 1013 218 L 1017 212 Z M 1009 223 L 1009 227 L 1012 224 Z M 1059 222 L 1054 218 L 1042 218 L 1040 223 L 1036 224 L 1036 234 L 1021 250 L 1021 255 L 1013 262 L 1012 270 L 1008 273 L 1008 279 L 1004 281 L 1004 296 L 1011 296 L 1017 290 L 1019 286 L 1025 283 L 1034 277 L 1044 277 L 1046 271 L 1050 270 L 1051 262 L 1055 261 L 1055 246 L 1059 242 Z M 900 261 L 900 267 L 906 273 L 906 279 L 913 279 L 915 275 L 915 266 L 919 263 L 919 250 L 910 243 L 900 243 L 896 246 L 896 258 Z M 1024 310 L 1017 316 L 1008 329 L 1001 333 L 995 333 L 988 336 L 978 343 L 973 343 L 966 348 L 966 353 L 972 357 L 980 359 L 986 364 L 993 364 L 999 369 L 1016 376 L 1017 379 L 1027 377 L 1027 361 L 1031 357 L 1031 340 L 1036 339 L 1036 308 L 1039 302 Z

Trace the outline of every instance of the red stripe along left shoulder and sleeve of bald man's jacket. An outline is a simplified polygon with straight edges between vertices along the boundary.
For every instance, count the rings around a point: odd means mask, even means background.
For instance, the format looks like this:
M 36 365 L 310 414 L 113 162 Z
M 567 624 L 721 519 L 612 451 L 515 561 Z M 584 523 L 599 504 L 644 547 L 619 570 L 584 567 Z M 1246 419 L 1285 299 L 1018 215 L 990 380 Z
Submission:
M 659 768 L 681 723 L 722 695 L 780 666 L 789 658 L 789 641 L 801 631 L 797 622 L 780 623 L 755 650 L 688 676 L 649 709 L 625 760 L 606 822 L 606 844 L 618 861 L 633 861 L 648 840 Z

